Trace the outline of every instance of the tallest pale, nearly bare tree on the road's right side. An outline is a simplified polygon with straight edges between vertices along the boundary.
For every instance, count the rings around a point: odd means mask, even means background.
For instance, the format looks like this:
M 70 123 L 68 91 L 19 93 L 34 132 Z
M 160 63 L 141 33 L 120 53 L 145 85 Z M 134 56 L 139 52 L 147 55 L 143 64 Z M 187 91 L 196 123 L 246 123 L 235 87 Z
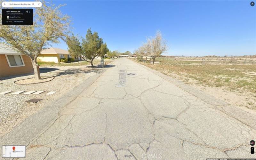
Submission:
M 168 50 L 167 42 L 163 39 L 162 33 L 158 30 L 156 35 L 152 38 L 147 38 L 147 43 L 143 45 L 143 48 L 147 55 L 149 55 L 153 64 L 155 58 L 161 56 L 162 53 Z

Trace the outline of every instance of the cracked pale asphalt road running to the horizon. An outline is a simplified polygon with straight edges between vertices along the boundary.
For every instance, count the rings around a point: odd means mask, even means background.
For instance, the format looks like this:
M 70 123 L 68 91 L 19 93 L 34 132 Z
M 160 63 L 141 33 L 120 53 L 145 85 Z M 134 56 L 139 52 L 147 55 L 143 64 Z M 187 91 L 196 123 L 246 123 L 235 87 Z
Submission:
M 255 158 L 255 129 L 221 110 L 228 104 L 132 60 L 113 65 L 59 107 L 26 159 Z

